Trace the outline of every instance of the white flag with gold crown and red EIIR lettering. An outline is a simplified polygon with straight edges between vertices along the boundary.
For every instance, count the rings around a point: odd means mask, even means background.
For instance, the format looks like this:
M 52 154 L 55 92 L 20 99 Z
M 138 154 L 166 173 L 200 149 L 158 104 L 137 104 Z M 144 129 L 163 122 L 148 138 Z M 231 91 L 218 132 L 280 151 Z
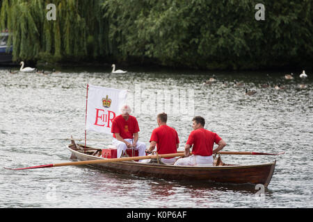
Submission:
M 111 134 L 112 121 L 126 102 L 127 90 L 88 85 L 86 130 Z

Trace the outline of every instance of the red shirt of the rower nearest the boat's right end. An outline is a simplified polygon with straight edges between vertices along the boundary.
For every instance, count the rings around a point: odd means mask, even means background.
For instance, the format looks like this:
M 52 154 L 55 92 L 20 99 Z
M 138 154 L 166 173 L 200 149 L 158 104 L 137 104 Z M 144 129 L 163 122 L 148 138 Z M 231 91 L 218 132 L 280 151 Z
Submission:
M 216 133 L 200 128 L 191 132 L 186 144 L 193 146 L 193 155 L 209 156 L 213 153 L 214 143 L 218 144 L 220 139 Z

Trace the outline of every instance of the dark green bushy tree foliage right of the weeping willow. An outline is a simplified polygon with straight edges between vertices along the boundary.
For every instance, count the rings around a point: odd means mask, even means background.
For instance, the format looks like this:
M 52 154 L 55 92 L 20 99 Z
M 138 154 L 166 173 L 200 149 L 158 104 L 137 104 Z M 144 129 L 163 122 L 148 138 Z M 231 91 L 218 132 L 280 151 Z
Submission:
M 202 69 L 312 63 L 312 1 L 265 1 L 265 21 L 255 19 L 257 3 L 108 0 L 104 8 L 124 58 Z

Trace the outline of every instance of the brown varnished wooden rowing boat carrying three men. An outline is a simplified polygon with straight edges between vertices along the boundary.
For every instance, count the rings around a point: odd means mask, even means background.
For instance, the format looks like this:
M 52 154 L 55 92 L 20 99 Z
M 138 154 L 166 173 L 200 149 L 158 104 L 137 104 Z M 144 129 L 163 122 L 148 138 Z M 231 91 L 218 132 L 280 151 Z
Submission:
M 67 146 L 72 153 L 72 160 L 105 160 L 102 157 L 101 148 L 93 148 L 83 144 L 72 144 Z M 126 159 L 125 159 L 126 160 Z M 88 164 L 90 167 L 113 171 L 116 173 L 132 174 L 146 178 L 161 178 L 164 180 L 188 180 L 188 181 L 212 181 L 234 184 L 264 185 L 268 187 L 271 182 L 275 163 L 238 165 L 225 164 L 221 161 L 220 155 L 214 159 L 213 166 L 175 166 L 164 164 L 161 160 L 152 160 L 149 163 L 136 161 L 101 162 Z

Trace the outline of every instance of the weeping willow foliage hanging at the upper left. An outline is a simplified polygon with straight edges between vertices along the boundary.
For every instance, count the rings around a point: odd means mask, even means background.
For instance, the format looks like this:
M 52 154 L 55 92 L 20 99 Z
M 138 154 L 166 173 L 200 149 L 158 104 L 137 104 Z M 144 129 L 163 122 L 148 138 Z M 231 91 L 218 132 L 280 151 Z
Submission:
M 47 4 L 56 5 L 56 21 L 48 21 Z M 103 0 L 2 0 L 0 29 L 11 33 L 13 60 L 80 60 L 106 56 Z

